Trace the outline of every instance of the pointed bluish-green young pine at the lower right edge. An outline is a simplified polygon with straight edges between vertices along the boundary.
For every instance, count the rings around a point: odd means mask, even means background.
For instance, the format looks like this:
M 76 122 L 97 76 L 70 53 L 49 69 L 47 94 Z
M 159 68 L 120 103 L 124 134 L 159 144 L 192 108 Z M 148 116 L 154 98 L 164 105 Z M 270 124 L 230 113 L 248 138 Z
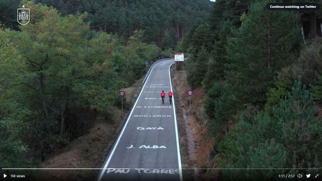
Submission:
M 322 139 L 321 120 L 314 117 L 317 109 L 312 101 L 306 86 L 302 87 L 298 78 L 288 99 L 280 101 L 273 109 L 281 134 L 276 139 L 288 148 L 290 154 L 288 167 L 318 167 L 314 164 L 316 156 L 322 160 L 322 143 L 318 141 Z

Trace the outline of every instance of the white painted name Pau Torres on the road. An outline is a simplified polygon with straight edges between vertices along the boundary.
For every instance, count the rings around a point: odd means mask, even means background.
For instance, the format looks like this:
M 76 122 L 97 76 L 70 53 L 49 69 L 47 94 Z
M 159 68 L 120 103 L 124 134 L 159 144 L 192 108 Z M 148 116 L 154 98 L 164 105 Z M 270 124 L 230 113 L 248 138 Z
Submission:
M 179 169 L 145 169 L 145 168 L 135 168 L 135 169 L 116 169 L 108 168 L 106 173 L 120 173 L 128 174 L 130 172 L 137 172 L 138 174 L 179 174 Z

